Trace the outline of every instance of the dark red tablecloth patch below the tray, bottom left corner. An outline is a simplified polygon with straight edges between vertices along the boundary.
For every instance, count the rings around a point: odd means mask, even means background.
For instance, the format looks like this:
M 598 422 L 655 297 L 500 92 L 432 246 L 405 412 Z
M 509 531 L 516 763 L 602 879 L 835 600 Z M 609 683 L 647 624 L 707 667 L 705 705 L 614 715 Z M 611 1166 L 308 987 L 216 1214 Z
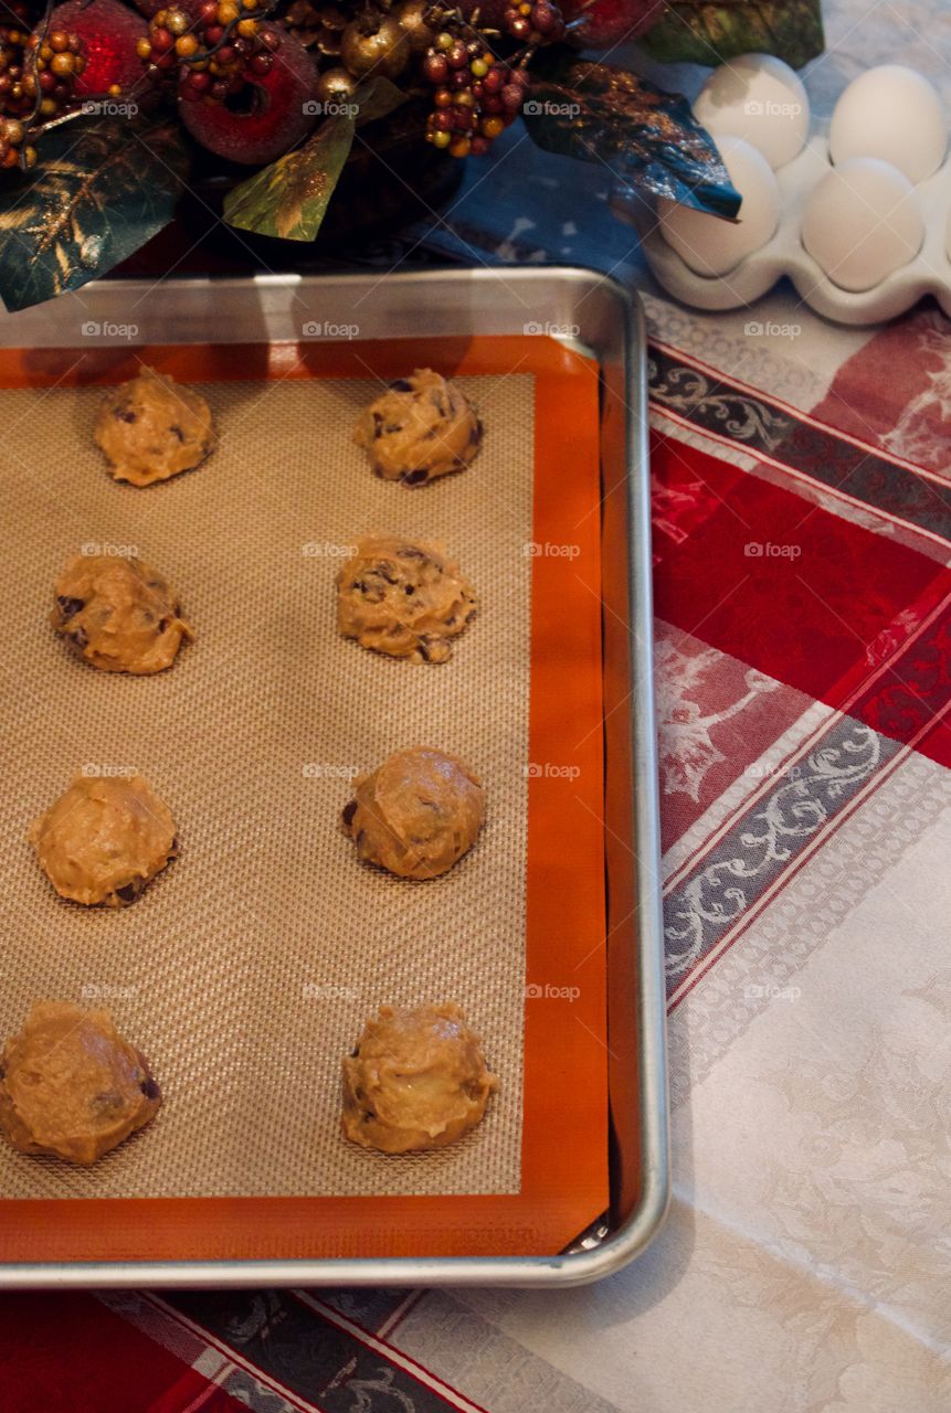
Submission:
M 201 1395 L 212 1390 L 208 1402 Z M 170 1349 L 75 1291 L 0 1301 L 0 1413 L 242 1413 Z M 246 1410 L 244 1410 L 246 1413 Z

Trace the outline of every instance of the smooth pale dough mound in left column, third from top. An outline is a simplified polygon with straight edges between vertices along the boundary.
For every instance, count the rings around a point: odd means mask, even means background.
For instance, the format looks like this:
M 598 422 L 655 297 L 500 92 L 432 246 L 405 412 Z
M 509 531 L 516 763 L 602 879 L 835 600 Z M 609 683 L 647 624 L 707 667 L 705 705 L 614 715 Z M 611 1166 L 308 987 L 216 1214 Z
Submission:
M 27 839 L 61 897 L 134 903 L 178 853 L 175 821 L 141 776 L 76 776 Z

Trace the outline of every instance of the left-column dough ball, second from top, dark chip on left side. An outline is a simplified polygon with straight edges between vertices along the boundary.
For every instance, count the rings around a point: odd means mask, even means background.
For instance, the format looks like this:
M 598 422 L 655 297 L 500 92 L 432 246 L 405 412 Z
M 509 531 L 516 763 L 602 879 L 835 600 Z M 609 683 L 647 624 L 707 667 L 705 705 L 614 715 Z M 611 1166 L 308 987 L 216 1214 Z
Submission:
M 103 673 L 161 673 L 195 637 L 168 581 L 141 560 L 76 555 L 57 581 L 52 626 Z

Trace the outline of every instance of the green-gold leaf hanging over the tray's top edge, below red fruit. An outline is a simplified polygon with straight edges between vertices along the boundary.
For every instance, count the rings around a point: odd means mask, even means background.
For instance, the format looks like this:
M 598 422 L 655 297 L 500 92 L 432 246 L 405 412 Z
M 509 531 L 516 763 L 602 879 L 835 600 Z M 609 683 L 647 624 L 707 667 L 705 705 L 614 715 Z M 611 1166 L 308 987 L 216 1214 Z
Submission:
M 239 230 L 281 240 L 314 240 L 343 165 L 356 129 L 386 117 L 406 93 L 389 79 L 360 85 L 352 102 L 328 102 L 326 116 L 302 147 L 254 172 L 225 198 L 225 220 Z

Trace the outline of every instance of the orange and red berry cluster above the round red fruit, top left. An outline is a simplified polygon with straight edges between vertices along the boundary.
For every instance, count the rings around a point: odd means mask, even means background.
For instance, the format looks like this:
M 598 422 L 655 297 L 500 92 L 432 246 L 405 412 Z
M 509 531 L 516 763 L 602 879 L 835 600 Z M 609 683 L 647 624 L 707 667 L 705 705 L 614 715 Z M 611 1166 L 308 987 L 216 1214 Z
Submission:
M 211 103 L 237 93 L 250 71 L 270 72 L 280 37 L 260 24 L 261 0 L 201 0 L 192 13 L 158 10 L 137 54 L 147 75 L 163 79 L 178 71 L 182 99 Z

